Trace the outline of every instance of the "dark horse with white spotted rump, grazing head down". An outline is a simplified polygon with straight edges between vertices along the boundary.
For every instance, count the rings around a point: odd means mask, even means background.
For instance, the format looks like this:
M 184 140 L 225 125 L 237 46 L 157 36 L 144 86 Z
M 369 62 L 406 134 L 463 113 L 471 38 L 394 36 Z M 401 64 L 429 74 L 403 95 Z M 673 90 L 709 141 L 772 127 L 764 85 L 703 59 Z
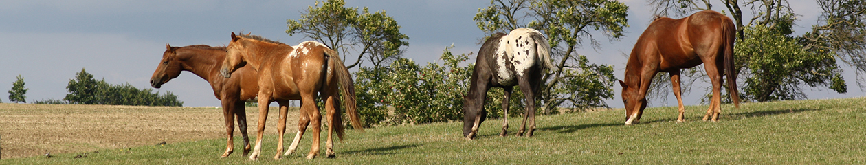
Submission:
M 481 122 L 487 118 L 484 101 L 488 89 L 502 88 L 502 114 L 508 114 L 508 101 L 514 86 L 520 86 L 526 96 L 526 112 L 520 125 L 518 136 L 522 136 L 529 122 L 527 136 L 535 130 L 535 96 L 542 83 L 545 69 L 553 69 L 550 58 L 550 45 L 538 30 L 517 29 L 508 35 L 496 33 L 481 45 L 475 60 L 475 69 L 469 80 L 469 94 L 463 97 L 463 136 L 471 140 L 478 134 Z M 508 117 L 504 117 L 501 136 L 507 135 Z

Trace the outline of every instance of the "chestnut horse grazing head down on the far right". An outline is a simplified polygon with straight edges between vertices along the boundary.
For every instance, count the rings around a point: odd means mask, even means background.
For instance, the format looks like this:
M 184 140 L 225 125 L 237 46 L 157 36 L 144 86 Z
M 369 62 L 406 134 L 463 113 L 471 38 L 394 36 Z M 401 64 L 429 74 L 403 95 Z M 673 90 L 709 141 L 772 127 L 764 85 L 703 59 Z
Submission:
M 646 92 L 653 76 L 659 71 L 668 72 L 673 83 L 674 96 L 679 102 L 680 115 L 677 122 L 684 121 L 685 109 L 680 96 L 680 69 L 692 68 L 701 63 L 713 83 L 713 98 L 707 115 L 719 120 L 721 112 L 721 73 L 727 75 L 727 84 L 734 106 L 740 108 L 734 76 L 734 34 L 736 28 L 727 16 L 712 10 L 697 12 L 681 19 L 661 17 L 650 23 L 650 27 L 637 38 L 625 66 L 623 102 L 625 103 L 625 125 L 638 123 L 647 106 Z

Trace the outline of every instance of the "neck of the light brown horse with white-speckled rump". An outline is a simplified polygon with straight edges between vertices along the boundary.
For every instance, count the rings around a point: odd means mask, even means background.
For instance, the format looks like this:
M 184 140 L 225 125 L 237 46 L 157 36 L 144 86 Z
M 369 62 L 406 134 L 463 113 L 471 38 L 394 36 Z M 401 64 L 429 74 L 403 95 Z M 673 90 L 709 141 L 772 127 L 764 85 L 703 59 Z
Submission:
M 278 43 L 265 43 L 260 41 L 249 41 L 247 46 L 248 58 L 247 64 L 253 68 L 259 69 L 262 63 L 277 60 L 279 56 L 287 56 L 289 52 L 294 50 L 292 46 Z

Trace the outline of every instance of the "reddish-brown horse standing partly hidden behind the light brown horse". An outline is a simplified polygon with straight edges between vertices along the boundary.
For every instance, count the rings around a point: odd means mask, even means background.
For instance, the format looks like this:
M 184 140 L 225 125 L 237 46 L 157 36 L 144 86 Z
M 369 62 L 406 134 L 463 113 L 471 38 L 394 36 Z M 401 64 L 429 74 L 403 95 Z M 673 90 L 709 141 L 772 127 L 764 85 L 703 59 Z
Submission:
M 223 157 L 228 157 L 234 151 L 235 117 L 243 135 L 243 155 L 249 153 L 249 137 L 247 136 L 247 111 L 243 103 L 255 99 L 259 91 L 258 73 L 250 68 L 237 69 L 235 76 L 225 78 L 219 75 L 223 66 L 225 47 L 210 47 L 208 45 L 191 45 L 171 47 L 165 43 L 163 59 L 151 76 L 151 86 L 159 88 L 163 83 L 180 76 L 181 71 L 190 71 L 210 82 L 216 99 L 223 102 L 225 130 L 229 135 Z

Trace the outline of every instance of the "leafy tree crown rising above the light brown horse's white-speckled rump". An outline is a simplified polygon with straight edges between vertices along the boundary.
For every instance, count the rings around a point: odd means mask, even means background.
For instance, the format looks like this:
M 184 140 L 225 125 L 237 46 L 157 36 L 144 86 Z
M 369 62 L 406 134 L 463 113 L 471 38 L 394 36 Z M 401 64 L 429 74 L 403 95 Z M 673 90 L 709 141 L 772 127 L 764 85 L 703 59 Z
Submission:
M 378 69 L 396 59 L 403 52 L 400 47 L 409 45 L 406 41 L 409 36 L 400 33 L 397 21 L 385 14 L 385 10 L 371 13 L 366 7 L 359 11 L 357 7 L 346 8 L 345 5 L 343 0 L 328 0 L 321 6 L 316 1 L 300 19 L 287 21 L 286 33 L 289 36 L 303 34 L 325 43 L 342 54 L 342 59 L 349 59 L 346 54 L 357 50 L 357 60 L 347 65 L 350 69 L 362 63 L 362 59 Z

